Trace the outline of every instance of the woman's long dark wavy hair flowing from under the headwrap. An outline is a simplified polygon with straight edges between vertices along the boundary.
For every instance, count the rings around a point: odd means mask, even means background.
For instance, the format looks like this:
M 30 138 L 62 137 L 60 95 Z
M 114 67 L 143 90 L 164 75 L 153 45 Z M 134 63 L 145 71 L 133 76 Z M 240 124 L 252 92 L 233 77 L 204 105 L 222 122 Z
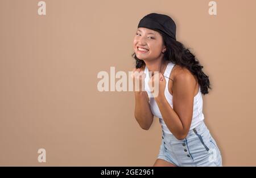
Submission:
M 203 66 L 200 65 L 200 62 L 196 59 L 195 55 L 193 55 L 190 50 L 185 48 L 185 46 L 179 41 L 172 39 L 160 31 L 158 32 L 162 35 L 164 45 L 166 46 L 164 60 L 170 61 L 181 67 L 186 67 L 192 74 L 196 75 L 201 93 L 204 95 L 208 94 L 208 88 L 212 89 L 210 87 L 209 77 L 203 72 Z M 143 60 L 137 58 L 135 53 L 132 54 L 132 57 L 136 60 L 135 66 L 137 69 L 146 65 Z

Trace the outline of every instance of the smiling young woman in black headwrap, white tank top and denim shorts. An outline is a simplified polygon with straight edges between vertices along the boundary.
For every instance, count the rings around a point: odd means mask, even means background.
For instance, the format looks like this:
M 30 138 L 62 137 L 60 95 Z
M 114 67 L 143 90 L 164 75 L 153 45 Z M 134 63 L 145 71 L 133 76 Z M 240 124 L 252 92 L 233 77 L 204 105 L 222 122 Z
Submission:
M 175 22 L 163 14 L 144 16 L 133 45 L 136 67 L 132 77 L 142 86 L 134 91 L 134 116 L 145 130 L 154 116 L 162 125 L 162 144 L 154 166 L 222 166 L 221 152 L 202 112 L 202 94 L 208 94 L 209 79 L 195 56 L 176 41 Z M 159 94 L 152 97 L 150 84 L 156 80 Z

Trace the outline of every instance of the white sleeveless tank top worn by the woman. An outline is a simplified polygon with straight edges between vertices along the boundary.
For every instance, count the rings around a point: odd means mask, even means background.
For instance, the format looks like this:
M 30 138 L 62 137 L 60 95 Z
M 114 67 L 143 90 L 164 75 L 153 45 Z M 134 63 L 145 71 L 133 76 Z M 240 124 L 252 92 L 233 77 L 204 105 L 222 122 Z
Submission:
M 166 67 L 166 71 L 164 71 L 164 76 L 170 78 L 170 74 L 172 71 L 172 68 L 174 67 L 174 63 L 169 62 L 167 67 Z M 155 99 L 152 97 L 152 94 L 150 92 L 150 88 L 148 87 L 148 80 L 150 79 L 149 73 L 148 73 L 148 68 L 147 66 L 145 66 L 144 69 L 144 73 L 146 74 L 146 78 L 145 78 L 145 90 L 148 94 L 148 97 L 150 99 L 149 104 L 150 104 L 150 109 L 151 112 L 154 116 L 159 118 L 159 123 L 162 125 L 162 129 L 163 132 L 165 133 L 169 133 L 172 134 L 170 132 L 170 130 L 167 128 L 166 124 L 164 123 L 164 120 L 162 118 L 162 115 L 160 113 L 160 110 L 158 108 L 158 105 L 156 104 Z M 169 90 L 168 90 L 168 83 L 169 80 L 168 78 L 166 79 L 166 88 L 164 90 L 164 96 L 166 96 L 166 99 L 168 101 L 168 103 L 171 105 L 172 108 L 172 95 L 170 94 Z M 197 93 L 197 95 L 194 97 L 194 103 L 193 103 L 193 117 L 192 117 L 192 122 L 191 122 L 191 126 L 190 129 L 195 128 L 197 125 L 200 124 L 201 121 L 204 120 L 204 114 L 203 114 L 203 96 L 201 94 L 201 88 L 199 86 L 199 92 Z

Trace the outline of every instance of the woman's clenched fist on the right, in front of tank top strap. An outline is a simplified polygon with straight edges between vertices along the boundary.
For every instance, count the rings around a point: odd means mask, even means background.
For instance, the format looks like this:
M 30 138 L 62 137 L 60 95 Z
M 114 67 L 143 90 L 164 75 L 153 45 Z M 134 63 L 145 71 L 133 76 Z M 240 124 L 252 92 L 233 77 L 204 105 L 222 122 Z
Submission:
M 155 99 L 164 98 L 164 89 L 166 88 L 166 79 L 162 73 L 155 72 L 153 76 L 150 76 L 148 81 L 151 93 Z

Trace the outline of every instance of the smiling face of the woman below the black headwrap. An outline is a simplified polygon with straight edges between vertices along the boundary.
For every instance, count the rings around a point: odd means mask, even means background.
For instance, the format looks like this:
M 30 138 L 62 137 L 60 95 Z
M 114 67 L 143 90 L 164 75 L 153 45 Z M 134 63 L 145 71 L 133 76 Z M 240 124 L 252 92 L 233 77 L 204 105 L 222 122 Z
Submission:
M 135 33 L 133 48 L 140 60 L 155 60 L 166 50 L 159 32 L 142 27 Z

